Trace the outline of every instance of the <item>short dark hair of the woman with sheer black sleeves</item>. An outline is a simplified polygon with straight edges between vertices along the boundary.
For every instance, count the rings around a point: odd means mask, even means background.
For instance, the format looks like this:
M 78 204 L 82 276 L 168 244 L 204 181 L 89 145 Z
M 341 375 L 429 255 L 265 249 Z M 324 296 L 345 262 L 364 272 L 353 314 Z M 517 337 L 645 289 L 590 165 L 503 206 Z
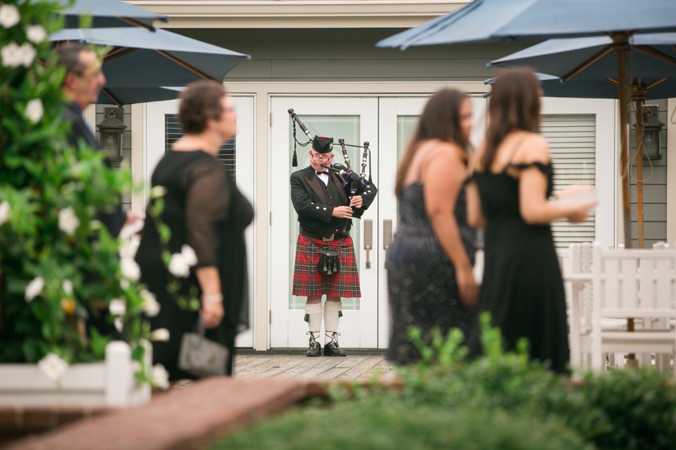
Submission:
M 209 119 L 217 120 L 223 114 L 221 99 L 228 92 L 216 81 L 194 81 L 186 86 L 179 98 L 179 122 L 187 134 L 199 134 L 206 130 Z

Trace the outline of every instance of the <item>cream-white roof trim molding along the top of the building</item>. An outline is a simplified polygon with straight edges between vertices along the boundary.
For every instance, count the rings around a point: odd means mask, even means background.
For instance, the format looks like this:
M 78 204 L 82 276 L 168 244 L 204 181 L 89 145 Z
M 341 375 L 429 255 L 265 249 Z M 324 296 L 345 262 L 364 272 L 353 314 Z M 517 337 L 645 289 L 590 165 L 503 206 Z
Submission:
M 135 0 L 162 28 L 410 28 L 467 0 Z

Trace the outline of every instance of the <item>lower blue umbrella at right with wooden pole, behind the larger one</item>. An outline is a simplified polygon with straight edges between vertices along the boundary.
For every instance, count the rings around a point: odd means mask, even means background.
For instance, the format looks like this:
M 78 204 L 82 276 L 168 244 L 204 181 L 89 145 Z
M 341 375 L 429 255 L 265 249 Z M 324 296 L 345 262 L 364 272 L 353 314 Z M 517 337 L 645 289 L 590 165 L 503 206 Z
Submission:
M 630 72 L 633 83 L 630 85 L 631 98 L 636 103 L 637 148 L 642 143 L 641 104 L 646 99 L 664 99 L 676 95 L 676 33 L 636 34 L 628 39 Z M 613 89 L 602 89 L 600 94 L 606 98 L 619 97 L 617 79 L 617 53 L 613 51 L 610 37 L 588 37 L 574 39 L 550 39 L 533 45 L 506 57 L 491 61 L 488 67 L 513 67 L 530 65 L 540 72 L 559 76 L 558 87 L 552 87 L 552 81 L 544 81 L 549 90 L 558 89 L 563 96 L 595 96 L 593 92 L 582 92 L 590 83 L 605 83 Z M 555 83 L 555 82 L 554 82 Z M 572 84 L 571 84 L 572 83 Z M 547 87 L 547 86 L 546 86 Z M 567 92 L 567 95 L 565 94 Z M 589 95 L 587 95 L 589 94 Z M 643 247 L 643 158 L 637 152 L 637 209 L 639 227 L 639 247 Z M 625 167 L 622 169 L 626 170 Z

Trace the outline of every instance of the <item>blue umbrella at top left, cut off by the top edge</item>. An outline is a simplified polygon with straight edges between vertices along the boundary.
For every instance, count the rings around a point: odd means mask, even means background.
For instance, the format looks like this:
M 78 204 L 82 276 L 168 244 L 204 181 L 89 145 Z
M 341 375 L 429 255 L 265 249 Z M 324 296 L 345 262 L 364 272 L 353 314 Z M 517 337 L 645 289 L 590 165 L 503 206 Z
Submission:
M 139 6 L 121 0 L 56 0 L 65 16 L 65 28 L 79 28 L 81 17 L 91 17 L 92 28 L 140 26 L 154 29 L 156 20 L 168 19 L 157 12 L 148 11 Z

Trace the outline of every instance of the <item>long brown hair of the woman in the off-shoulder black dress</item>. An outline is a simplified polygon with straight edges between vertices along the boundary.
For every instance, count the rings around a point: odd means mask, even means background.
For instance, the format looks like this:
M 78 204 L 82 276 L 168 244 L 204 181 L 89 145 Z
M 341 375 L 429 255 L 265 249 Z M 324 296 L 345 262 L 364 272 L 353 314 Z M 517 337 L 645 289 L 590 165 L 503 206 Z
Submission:
M 481 169 L 489 171 L 495 152 L 505 137 L 521 130 L 538 132 L 540 127 L 540 81 L 530 68 L 502 72 L 490 90 L 486 148 Z

